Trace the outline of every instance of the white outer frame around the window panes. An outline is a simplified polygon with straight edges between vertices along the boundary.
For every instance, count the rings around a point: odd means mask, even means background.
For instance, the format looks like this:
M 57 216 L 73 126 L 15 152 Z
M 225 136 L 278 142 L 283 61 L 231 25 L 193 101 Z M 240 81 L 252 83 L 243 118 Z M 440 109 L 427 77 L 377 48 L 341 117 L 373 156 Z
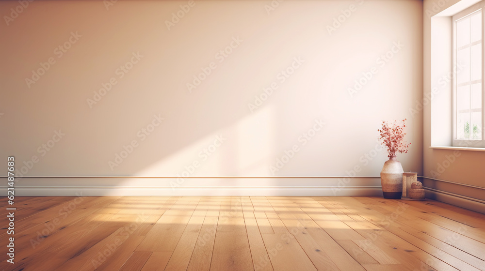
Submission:
M 457 73 L 459 71 L 456 70 L 457 63 L 456 63 L 456 52 L 457 52 L 457 47 L 456 47 L 456 21 L 459 19 L 466 17 L 476 11 L 480 10 L 482 13 L 482 78 L 481 78 L 481 85 L 482 85 L 482 130 L 480 131 L 482 134 L 482 139 L 477 140 L 477 139 L 458 139 L 457 135 L 457 127 L 456 127 L 456 121 L 457 121 L 457 106 L 456 106 L 456 91 L 457 91 Z M 485 0 L 480 1 L 476 3 L 475 5 L 458 12 L 457 14 L 453 15 L 453 147 L 472 147 L 472 148 L 485 148 L 485 82 L 484 82 L 484 73 L 485 73 L 485 66 L 484 66 L 484 59 L 485 59 Z M 471 47 L 470 47 L 471 50 Z M 471 71 L 470 71 L 471 73 Z M 470 86 L 471 87 L 471 86 Z M 471 93 L 471 89 L 470 89 Z M 471 99 L 471 95 L 470 95 Z M 471 122 L 471 121 L 470 121 Z M 472 124 L 470 123 L 470 126 Z M 473 128 L 470 127 L 470 134 L 471 130 Z

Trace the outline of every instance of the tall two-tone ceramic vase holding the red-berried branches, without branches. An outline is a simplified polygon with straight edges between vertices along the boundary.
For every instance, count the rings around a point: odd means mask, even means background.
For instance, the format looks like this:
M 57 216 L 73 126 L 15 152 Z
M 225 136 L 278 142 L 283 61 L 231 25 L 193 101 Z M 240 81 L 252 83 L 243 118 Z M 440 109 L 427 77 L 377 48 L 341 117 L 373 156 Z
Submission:
M 384 198 L 401 198 L 403 194 L 403 166 L 396 156 L 389 156 L 381 171 Z

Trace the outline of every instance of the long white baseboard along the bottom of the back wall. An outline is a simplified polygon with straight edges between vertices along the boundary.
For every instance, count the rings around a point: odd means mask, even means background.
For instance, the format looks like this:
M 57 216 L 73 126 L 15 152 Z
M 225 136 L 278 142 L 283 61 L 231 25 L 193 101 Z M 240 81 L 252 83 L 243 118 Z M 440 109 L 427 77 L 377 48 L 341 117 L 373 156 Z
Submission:
M 16 196 L 382 196 L 379 177 L 23 178 Z M 7 194 L 6 187 L 0 194 Z

